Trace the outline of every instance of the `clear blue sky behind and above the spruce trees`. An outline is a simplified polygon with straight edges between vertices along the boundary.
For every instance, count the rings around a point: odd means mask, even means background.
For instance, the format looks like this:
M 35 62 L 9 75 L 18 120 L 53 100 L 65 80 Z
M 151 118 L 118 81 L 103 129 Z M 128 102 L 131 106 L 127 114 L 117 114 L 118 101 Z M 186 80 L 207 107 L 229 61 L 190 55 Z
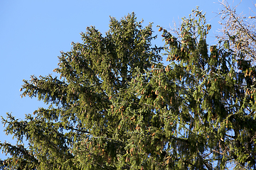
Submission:
M 243 0 L 238 9 L 249 13 L 249 7 L 254 8 L 253 1 Z M 233 4 L 231 0 L 228 2 Z M 234 4 L 239 2 L 235 0 Z M 144 19 L 144 26 L 153 22 L 157 33 L 157 25 L 170 28 L 174 20 L 178 23 L 178 18 L 188 16 L 196 6 L 206 11 L 208 23 L 212 24 L 208 43 L 215 44 L 214 33 L 220 28 L 220 18 L 215 18 L 221 8 L 218 0 L 0 0 L 0 115 L 6 117 L 9 112 L 23 119 L 38 107 L 47 107 L 37 98 L 21 98 L 22 80 L 30 79 L 32 74 L 37 77 L 53 74 L 60 50 L 69 51 L 71 42 L 81 42 L 80 33 L 87 26 L 105 33 L 110 16 L 120 19 L 134 11 L 138 21 Z M 160 39 L 156 44 L 161 45 Z M 0 141 L 15 144 L 11 138 L 1 125 Z M 0 159 L 5 157 L 0 152 Z

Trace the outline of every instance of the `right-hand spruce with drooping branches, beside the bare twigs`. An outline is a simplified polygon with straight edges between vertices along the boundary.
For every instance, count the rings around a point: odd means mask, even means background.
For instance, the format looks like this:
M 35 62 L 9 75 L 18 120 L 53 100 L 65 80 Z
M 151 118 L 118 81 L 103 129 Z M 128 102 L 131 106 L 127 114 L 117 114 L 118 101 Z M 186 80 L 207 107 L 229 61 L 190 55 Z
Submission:
M 146 73 L 144 89 L 152 86 L 156 98 L 143 91 L 140 101 L 154 106 L 153 134 L 163 143 L 156 152 L 165 169 L 255 169 L 254 62 L 230 49 L 230 39 L 209 47 L 205 15 L 197 8 L 183 18 L 176 36 L 159 28 L 169 64 Z

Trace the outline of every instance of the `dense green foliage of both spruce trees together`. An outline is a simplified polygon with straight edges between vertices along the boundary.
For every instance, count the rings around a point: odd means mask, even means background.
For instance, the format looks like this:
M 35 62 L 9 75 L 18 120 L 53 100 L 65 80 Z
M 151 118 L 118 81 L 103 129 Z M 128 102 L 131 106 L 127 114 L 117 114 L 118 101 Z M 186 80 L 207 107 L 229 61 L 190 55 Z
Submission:
M 195 10 L 166 44 L 151 45 L 151 24 L 134 13 L 94 27 L 62 52 L 60 78 L 31 77 L 37 97 L 26 120 L 2 118 L 28 147 L 0 146 L 6 169 L 255 169 L 256 70 L 229 40 L 208 46 L 210 24 Z M 161 50 L 166 54 L 159 55 Z M 235 53 L 237 54 L 237 53 Z M 166 65 L 161 60 L 166 57 Z

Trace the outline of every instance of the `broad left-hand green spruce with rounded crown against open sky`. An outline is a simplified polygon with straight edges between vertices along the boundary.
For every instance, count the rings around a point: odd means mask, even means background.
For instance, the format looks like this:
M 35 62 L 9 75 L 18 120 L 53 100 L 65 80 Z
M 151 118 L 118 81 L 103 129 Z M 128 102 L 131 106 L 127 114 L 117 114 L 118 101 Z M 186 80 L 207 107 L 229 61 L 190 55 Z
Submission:
M 10 113 L 2 118 L 6 133 L 18 141 L 16 146 L 1 143 L 11 154 L 2 162 L 6 168 L 129 167 L 122 158 L 131 137 L 124 130 L 128 118 L 123 112 L 139 109 L 139 98 L 128 92 L 129 82 L 161 59 L 161 48 L 151 46 L 156 38 L 151 27 L 151 23 L 143 27 L 134 13 L 121 21 L 110 18 L 105 36 L 88 27 L 81 34 L 82 43 L 72 43 L 70 52 L 61 52 L 59 68 L 53 70 L 60 77 L 24 80 L 21 97 L 36 97 L 50 106 L 38 108 L 26 120 L 16 120 Z

